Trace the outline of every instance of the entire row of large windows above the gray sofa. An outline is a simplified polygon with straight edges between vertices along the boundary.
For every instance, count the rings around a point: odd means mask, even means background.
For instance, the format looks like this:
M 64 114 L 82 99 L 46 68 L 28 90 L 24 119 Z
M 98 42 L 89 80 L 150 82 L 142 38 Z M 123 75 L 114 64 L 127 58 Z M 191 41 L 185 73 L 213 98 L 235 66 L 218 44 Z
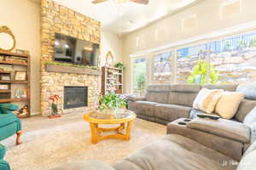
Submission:
M 151 54 L 151 71 L 146 57 L 133 59 L 134 93 L 142 94 L 146 77 L 155 84 L 256 82 L 256 32 L 174 49 Z

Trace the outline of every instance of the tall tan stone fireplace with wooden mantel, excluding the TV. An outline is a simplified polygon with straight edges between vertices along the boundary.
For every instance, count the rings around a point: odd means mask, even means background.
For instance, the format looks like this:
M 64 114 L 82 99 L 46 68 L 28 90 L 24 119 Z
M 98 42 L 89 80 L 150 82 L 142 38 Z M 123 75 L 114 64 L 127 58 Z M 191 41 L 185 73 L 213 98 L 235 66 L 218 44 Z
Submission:
M 101 93 L 99 65 L 91 70 L 52 64 L 55 33 L 100 44 L 101 24 L 52 0 L 42 0 L 41 8 L 41 113 L 51 113 L 49 96 L 53 94 L 61 97 L 62 114 L 91 111 Z M 79 99 L 73 99 L 76 94 L 81 94 Z

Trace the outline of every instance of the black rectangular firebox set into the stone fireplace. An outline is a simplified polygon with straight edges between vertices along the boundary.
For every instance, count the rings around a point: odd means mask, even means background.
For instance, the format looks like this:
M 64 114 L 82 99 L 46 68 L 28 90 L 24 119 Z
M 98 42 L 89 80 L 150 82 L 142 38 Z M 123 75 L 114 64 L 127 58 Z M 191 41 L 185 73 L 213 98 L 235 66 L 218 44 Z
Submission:
M 88 106 L 88 87 L 64 87 L 64 109 Z

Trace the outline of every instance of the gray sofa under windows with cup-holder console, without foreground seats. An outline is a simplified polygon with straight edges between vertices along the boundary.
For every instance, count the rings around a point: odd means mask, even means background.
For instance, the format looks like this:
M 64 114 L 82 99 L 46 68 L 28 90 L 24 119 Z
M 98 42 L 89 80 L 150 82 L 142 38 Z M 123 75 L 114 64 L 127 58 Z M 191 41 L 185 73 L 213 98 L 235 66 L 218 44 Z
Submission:
M 243 99 L 232 120 L 220 119 L 219 122 L 209 120 L 204 122 L 204 119 L 196 117 L 197 114 L 204 112 L 192 108 L 194 99 L 201 88 L 236 91 L 237 85 L 149 86 L 144 98 L 130 97 L 128 108 L 135 111 L 137 117 L 167 124 L 167 134 L 184 136 L 239 161 L 256 136 L 255 129 L 243 123 L 247 113 L 256 106 L 256 100 Z M 247 90 L 248 92 L 245 92 L 247 94 L 252 92 L 249 88 Z M 178 122 L 183 122 L 184 118 L 194 120 L 187 125 L 179 125 Z

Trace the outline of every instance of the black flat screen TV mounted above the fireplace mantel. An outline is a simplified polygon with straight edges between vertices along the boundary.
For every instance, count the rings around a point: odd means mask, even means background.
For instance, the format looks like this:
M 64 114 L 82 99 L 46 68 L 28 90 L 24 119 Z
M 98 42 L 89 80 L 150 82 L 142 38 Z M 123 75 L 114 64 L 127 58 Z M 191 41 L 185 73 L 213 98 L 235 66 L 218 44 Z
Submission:
M 98 65 L 99 44 L 55 33 L 55 61 Z

